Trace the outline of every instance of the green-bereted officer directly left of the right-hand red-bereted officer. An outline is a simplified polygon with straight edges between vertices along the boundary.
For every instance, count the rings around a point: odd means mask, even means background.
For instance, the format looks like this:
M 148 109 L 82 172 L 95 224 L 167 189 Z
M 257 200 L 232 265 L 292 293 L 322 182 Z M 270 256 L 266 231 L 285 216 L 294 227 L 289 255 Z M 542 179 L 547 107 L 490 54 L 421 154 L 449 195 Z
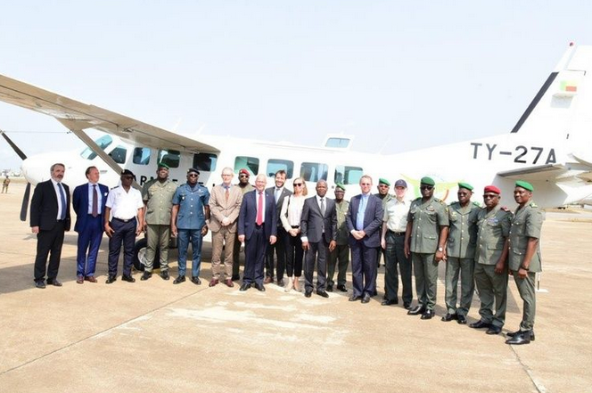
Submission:
M 458 323 L 466 323 L 466 315 L 471 307 L 473 291 L 473 266 L 477 226 L 474 217 L 480 209 L 479 203 L 472 202 L 473 186 L 467 183 L 458 184 L 458 201 L 448 206 L 448 244 L 446 250 L 446 307 L 447 313 L 442 321 L 456 319 Z M 458 275 L 461 277 L 460 299 L 457 299 L 456 288 Z M 458 307 L 456 308 L 456 300 Z

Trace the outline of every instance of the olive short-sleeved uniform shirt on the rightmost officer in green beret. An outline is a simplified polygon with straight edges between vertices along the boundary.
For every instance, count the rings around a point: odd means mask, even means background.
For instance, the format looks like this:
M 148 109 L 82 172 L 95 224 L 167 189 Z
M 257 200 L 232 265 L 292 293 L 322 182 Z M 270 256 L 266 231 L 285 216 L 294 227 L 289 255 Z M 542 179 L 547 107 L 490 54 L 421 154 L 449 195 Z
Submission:
M 524 207 L 516 209 L 510 230 L 510 250 L 508 251 L 510 270 L 520 269 L 529 238 L 540 239 L 540 229 L 544 219 L 543 211 L 532 201 Z M 541 270 L 539 242 L 537 251 L 530 259 L 529 271 L 536 273 Z

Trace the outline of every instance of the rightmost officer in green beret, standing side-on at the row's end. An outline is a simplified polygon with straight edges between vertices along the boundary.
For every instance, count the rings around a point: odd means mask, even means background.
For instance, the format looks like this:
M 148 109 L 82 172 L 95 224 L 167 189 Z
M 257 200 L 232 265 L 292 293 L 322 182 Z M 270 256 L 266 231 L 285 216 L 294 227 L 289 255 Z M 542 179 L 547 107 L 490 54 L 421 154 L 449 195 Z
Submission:
M 534 317 L 537 299 L 534 288 L 535 276 L 541 271 L 540 229 L 543 225 L 543 211 L 532 201 L 532 184 L 518 181 L 514 188 L 514 201 L 518 209 L 514 213 L 512 229 L 508 239 L 510 272 L 522 298 L 523 311 L 520 329 L 508 333 L 506 344 L 530 344 L 534 340 Z

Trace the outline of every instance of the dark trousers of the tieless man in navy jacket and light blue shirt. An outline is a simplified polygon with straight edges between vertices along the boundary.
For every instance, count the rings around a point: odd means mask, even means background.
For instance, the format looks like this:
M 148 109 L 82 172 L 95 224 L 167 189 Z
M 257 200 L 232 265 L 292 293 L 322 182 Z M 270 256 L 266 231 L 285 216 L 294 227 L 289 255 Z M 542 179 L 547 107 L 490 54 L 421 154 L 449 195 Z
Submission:
M 350 247 L 353 296 L 373 296 L 376 291 L 376 248 L 367 247 L 363 241 L 356 241 Z

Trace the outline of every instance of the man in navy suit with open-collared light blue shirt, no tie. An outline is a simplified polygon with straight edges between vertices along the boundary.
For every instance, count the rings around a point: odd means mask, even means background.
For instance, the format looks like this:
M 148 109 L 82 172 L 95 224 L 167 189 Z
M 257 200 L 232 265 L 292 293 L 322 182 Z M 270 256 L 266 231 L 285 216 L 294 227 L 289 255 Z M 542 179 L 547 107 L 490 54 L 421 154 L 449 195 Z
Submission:
M 362 193 L 349 202 L 346 225 L 351 249 L 351 274 L 354 293 L 349 301 L 370 301 L 376 291 L 376 252 L 381 245 L 382 201 L 370 193 L 372 177 L 359 179 Z

